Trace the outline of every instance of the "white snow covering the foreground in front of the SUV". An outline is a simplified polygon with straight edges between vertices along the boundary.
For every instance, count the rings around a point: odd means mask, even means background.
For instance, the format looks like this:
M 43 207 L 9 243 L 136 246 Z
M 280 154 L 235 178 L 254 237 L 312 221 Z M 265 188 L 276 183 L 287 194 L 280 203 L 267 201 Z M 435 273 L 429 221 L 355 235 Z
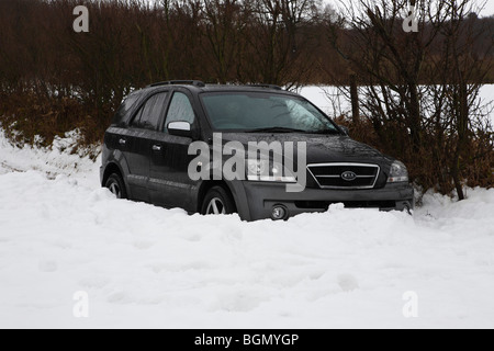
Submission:
M 494 328 L 494 190 L 414 217 L 188 216 L 112 199 L 74 137 L 0 134 L 0 328 Z

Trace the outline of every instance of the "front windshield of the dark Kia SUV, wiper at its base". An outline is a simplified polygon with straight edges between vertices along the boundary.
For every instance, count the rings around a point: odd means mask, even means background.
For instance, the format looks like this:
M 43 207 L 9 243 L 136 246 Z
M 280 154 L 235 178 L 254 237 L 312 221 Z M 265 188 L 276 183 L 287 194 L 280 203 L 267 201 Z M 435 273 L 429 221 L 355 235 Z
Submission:
M 201 95 L 213 128 L 218 132 L 339 134 L 308 101 L 266 92 L 214 92 Z

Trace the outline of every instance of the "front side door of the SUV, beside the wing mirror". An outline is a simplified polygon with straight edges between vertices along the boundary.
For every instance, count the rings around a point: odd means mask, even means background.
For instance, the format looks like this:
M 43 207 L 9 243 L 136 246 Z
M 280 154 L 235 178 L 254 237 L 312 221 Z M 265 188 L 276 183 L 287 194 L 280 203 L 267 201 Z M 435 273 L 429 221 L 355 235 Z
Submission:
M 186 90 L 175 91 L 165 123 L 161 123 L 161 133 L 153 143 L 149 173 L 153 203 L 195 211 L 193 193 L 198 182 L 188 174 L 189 163 L 195 157 L 188 155 L 192 139 L 169 135 L 167 129 L 170 122 L 189 122 L 192 128 L 198 128 L 195 116 L 191 95 Z

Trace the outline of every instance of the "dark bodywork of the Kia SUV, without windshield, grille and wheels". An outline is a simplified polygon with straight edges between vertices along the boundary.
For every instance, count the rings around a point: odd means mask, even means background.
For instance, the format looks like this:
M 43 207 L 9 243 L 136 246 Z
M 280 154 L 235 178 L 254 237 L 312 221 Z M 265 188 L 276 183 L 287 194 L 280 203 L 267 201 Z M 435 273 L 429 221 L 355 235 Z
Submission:
M 414 192 L 408 182 L 389 183 L 391 165 L 395 161 L 364 144 L 352 140 L 339 132 L 321 135 L 311 133 L 246 133 L 223 132 L 223 143 L 239 141 L 305 141 L 306 188 L 299 193 L 288 193 L 283 183 L 234 181 L 192 181 L 188 174 L 195 156 L 188 155 L 192 141 L 212 144 L 213 127 L 201 94 L 207 92 L 268 92 L 270 94 L 301 97 L 285 91 L 262 87 L 162 84 L 148 87 L 131 94 L 115 114 L 105 133 L 101 183 L 104 186 L 111 173 L 117 172 L 125 182 L 131 200 L 153 203 L 165 207 L 181 207 L 189 213 L 199 212 L 204 192 L 212 184 L 226 188 L 235 201 L 236 210 L 244 220 L 270 218 L 276 205 L 283 206 L 289 216 L 306 212 L 326 211 L 333 203 L 343 202 L 347 207 L 373 207 L 383 211 L 413 210 Z M 160 95 L 158 95 L 160 94 Z M 172 101 L 179 100 L 193 114 L 189 136 L 167 133 L 166 121 L 173 120 Z M 160 105 L 149 107 L 154 124 L 136 125 L 134 121 L 146 114 L 150 101 Z M 186 109 L 187 110 L 187 109 Z M 183 113 L 182 110 L 177 110 Z M 327 117 L 328 118 L 328 117 Z M 147 122 L 146 122 L 147 123 Z M 333 122 L 332 122 L 333 123 Z M 337 128 L 337 127 L 335 127 Z M 212 152 L 212 151 L 211 151 Z M 293 157 L 296 160 L 296 152 Z M 371 165 L 378 174 L 368 189 L 324 189 L 317 179 L 317 169 L 311 165 Z M 212 168 L 212 165 L 204 167 Z M 312 170 L 312 171 L 311 171 Z M 330 188 L 330 186 L 329 186 Z

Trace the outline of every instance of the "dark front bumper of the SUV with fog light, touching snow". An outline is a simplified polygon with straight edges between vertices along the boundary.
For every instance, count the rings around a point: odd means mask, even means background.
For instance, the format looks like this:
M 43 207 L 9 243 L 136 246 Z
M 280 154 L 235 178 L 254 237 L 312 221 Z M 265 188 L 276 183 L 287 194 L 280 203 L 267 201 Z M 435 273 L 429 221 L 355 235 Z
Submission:
M 238 181 L 232 188 L 243 220 L 271 218 L 274 206 L 284 207 L 287 217 L 325 212 L 334 203 L 381 211 L 409 211 L 415 206 L 414 189 L 408 183 L 389 183 L 383 189 L 369 190 L 306 188 L 300 193 L 287 192 L 283 183 Z

